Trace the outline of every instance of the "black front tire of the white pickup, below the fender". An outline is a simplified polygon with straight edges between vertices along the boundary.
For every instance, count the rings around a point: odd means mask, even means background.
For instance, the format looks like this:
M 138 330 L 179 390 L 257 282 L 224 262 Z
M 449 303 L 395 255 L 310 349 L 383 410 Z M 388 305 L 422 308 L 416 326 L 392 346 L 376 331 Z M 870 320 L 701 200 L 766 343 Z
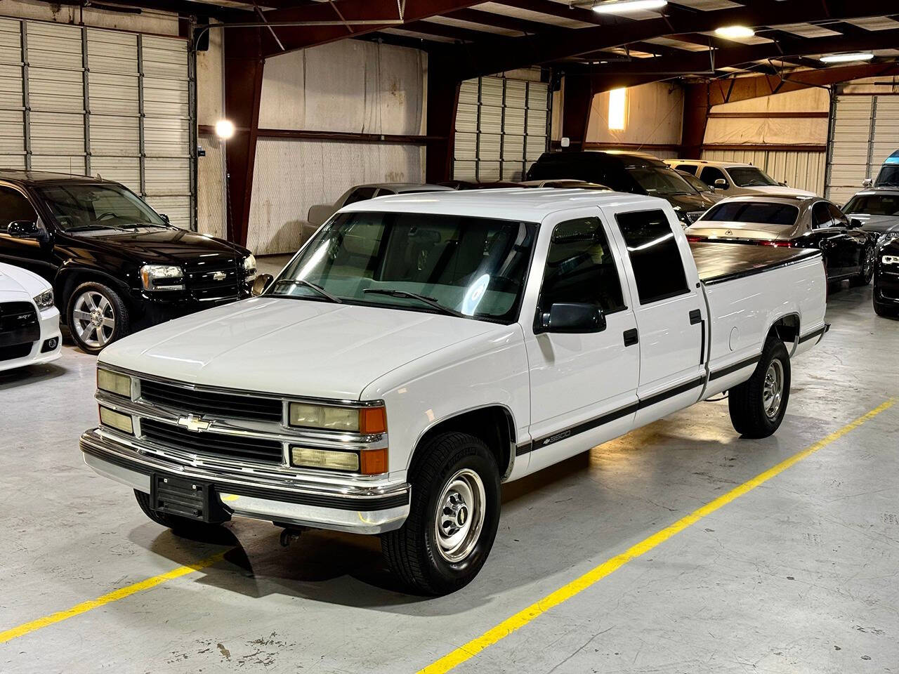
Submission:
M 475 537 L 476 525 L 469 524 L 468 533 L 458 554 L 470 550 L 458 561 L 450 559 L 452 549 L 444 552 L 437 531 L 439 501 L 449 502 L 453 492 L 447 490 L 455 484 L 460 471 L 476 474 L 484 488 L 483 524 Z M 381 535 L 381 551 L 396 576 L 413 591 L 428 595 L 444 595 L 455 592 L 471 582 L 484 566 L 494 545 L 500 520 L 500 475 L 496 459 L 480 439 L 467 433 L 441 433 L 428 440 L 416 451 L 416 458 L 409 472 L 412 483 L 412 503 L 409 517 L 402 528 Z M 470 477 L 470 475 L 469 475 Z M 458 492 L 456 493 L 458 496 Z M 465 501 L 462 501 L 463 507 Z M 442 513 L 447 518 L 449 509 Z M 473 512 L 475 512 L 473 510 Z M 469 519 L 475 521 L 477 513 Z M 449 522 L 449 519 L 445 520 Z M 463 519 L 460 528 L 468 519 Z M 441 529 L 451 532 L 452 528 Z M 458 530 L 457 530 L 458 531 Z M 441 539 L 449 543 L 446 538 Z M 448 556 L 450 558 L 448 558 Z

